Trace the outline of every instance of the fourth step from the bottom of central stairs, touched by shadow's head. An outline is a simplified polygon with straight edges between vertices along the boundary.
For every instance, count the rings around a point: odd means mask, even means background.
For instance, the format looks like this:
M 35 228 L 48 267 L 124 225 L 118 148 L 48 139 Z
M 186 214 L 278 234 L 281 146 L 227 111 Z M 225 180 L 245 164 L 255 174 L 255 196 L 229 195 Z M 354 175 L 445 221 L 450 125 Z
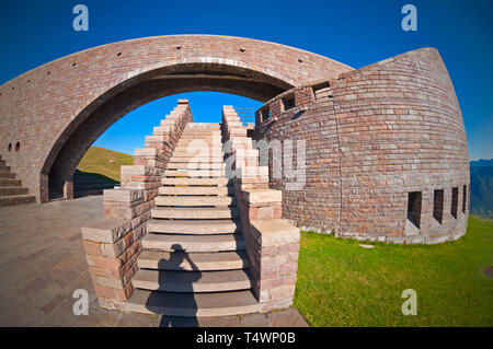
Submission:
M 162 252 L 227 252 L 243 251 L 244 239 L 240 234 L 222 235 L 171 235 L 147 234 L 141 240 L 142 248 Z

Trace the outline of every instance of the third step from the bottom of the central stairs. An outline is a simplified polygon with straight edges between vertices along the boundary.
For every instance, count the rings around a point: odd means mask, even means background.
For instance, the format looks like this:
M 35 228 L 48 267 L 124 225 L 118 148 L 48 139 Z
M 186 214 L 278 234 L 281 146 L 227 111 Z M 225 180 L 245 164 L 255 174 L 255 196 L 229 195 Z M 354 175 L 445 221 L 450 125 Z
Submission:
M 137 258 L 139 268 L 158 270 L 234 270 L 249 266 L 244 252 L 214 252 L 192 253 L 186 252 L 158 252 L 145 249 Z

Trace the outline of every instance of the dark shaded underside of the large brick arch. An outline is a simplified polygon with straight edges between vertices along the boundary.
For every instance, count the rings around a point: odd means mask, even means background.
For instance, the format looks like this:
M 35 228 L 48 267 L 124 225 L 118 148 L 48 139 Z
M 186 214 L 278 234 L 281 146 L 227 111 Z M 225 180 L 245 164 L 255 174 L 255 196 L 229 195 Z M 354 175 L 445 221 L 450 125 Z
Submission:
M 265 102 L 290 88 L 274 77 L 218 63 L 176 65 L 130 78 L 87 106 L 60 136 L 42 171 L 48 191 L 42 198 L 72 198 L 73 173 L 91 144 L 144 104 L 187 92 L 221 92 Z

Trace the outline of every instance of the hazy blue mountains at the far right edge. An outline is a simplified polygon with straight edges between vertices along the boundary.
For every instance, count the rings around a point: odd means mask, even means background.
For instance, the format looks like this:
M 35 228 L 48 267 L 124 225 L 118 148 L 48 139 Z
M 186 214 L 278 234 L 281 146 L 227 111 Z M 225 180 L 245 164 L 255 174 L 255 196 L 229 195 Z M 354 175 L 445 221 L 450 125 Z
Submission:
M 471 161 L 471 213 L 493 218 L 493 159 Z

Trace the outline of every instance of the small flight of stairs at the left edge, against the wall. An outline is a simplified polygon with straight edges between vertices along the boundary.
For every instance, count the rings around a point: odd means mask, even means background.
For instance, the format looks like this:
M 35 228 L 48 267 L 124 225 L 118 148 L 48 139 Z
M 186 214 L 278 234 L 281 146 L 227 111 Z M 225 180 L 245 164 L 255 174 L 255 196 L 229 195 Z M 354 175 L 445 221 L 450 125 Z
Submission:
M 36 198 L 27 194 L 27 188 L 22 186 L 21 179 L 15 179 L 15 173 L 12 173 L 0 155 L 0 206 L 35 202 Z

